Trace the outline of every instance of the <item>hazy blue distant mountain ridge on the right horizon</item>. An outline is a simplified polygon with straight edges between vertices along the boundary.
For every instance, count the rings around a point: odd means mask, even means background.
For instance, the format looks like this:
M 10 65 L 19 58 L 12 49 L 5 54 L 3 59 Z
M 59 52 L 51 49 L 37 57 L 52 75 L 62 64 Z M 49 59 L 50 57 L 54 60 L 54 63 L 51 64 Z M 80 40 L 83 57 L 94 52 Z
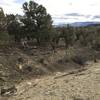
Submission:
M 100 26 L 100 22 L 74 22 L 70 23 L 69 25 L 73 27 Z M 67 24 L 65 23 L 55 25 L 55 27 L 66 27 L 66 26 Z

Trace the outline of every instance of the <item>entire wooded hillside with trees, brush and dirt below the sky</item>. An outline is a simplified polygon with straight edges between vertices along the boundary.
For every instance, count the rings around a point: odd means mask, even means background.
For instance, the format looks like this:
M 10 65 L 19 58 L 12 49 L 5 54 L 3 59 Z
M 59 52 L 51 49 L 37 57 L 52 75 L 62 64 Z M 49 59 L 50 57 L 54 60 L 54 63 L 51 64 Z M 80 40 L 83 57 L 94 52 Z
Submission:
M 99 100 L 100 26 L 54 27 L 42 5 L 22 8 L 0 8 L 0 100 Z

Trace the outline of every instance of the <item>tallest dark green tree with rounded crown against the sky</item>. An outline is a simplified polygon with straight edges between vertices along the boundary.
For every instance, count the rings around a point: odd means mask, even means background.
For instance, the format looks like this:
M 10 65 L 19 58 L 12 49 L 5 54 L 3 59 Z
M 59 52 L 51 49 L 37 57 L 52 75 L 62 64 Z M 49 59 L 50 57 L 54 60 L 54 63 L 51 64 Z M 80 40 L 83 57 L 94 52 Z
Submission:
M 45 7 L 30 1 L 23 4 L 23 10 L 25 15 L 21 21 L 24 23 L 26 35 L 36 38 L 39 44 L 49 41 L 52 31 L 52 19 Z

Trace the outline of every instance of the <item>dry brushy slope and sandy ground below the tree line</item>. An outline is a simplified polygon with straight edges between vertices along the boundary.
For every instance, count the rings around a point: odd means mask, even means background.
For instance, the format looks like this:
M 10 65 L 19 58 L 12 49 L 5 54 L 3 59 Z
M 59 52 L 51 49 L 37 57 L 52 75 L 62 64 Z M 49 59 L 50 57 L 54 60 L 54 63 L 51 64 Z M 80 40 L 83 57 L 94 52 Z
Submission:
M 56 51 L 2 46 L 0 100 L 99 100 L 99 52 L 95 63 L 86 47 Z

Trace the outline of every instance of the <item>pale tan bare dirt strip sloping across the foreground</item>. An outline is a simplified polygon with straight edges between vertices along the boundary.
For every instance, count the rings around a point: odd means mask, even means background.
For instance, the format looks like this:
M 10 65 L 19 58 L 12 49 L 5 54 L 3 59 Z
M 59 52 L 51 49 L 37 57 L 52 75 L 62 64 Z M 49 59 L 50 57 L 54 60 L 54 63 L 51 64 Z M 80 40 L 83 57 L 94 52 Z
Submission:
M 66 73 L 23 81 L 15 96 L 0 100 L 100 100 L 100 61 L 82 72 Z

